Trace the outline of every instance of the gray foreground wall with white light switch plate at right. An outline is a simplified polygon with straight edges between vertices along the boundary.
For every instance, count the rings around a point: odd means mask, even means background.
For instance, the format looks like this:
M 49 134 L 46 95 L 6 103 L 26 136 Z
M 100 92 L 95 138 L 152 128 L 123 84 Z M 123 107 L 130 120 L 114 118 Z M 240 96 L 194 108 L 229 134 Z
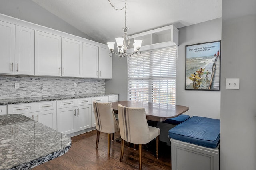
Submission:
M 256 1 L 222 0 L 220 169 L 256 170 Z M 240 89 L 225 89 L 240 78 Z

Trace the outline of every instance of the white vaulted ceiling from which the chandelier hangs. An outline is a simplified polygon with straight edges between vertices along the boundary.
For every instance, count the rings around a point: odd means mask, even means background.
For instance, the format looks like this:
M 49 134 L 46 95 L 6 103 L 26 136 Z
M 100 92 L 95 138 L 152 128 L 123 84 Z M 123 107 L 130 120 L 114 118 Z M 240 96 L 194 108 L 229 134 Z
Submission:
M 97 42 L 123 36 L 125 0 L 32 0 Z M 128 35 L 220 18 L 222 0 L 127 0 Z

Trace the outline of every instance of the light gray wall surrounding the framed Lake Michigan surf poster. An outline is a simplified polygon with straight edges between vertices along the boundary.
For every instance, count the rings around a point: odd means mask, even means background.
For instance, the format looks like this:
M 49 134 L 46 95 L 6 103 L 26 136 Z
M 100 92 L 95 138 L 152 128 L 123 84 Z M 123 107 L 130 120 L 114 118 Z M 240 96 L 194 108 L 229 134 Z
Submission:
M 217 40 L 221 40 L 221 18 L 179 28 L 176 104 L 188 106 L 187 115 L 220 119 L 220 91 L 185 90 L 185 46 Z

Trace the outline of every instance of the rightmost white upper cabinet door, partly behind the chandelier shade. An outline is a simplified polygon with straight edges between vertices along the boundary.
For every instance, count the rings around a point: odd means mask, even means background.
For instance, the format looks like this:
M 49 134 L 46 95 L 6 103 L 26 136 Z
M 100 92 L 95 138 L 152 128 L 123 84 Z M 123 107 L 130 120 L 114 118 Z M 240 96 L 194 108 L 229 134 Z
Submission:
M 109 56 L 110 51 L 99 47 L 99 78 L 112 78 L 112 57 Z

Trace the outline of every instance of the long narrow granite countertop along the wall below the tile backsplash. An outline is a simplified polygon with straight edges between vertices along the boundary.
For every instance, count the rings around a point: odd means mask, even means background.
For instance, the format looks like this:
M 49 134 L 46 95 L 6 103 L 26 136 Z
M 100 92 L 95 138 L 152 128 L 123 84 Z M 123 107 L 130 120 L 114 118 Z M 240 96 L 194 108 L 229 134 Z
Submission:
M 54 101 L 54 100 L 65 100 L 65 99 L 77 99 L 87 97 L 98 97 L 98 96 L 109 96 L 118 95 L 118 93 L 92 93 L 92 94 L 80 94 L 80 95 L 54 95 L 54 96 L 43 96 L 34 98 L 22 98 L 22 99 L 2 99 L 0 105 L 11 105 L 19 103 L 32 103 L 40 101 Z

